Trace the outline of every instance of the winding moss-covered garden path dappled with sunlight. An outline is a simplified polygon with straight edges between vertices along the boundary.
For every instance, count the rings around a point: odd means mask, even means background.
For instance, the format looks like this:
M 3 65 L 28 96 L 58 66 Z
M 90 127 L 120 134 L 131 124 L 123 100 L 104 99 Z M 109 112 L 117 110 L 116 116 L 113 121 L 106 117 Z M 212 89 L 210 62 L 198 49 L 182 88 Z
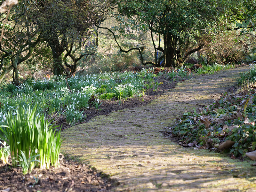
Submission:
M 97 116 L 62 132 L 62 151 L 109 174 L 113 191 L 256 191 L 253 162 L 183 148 L 162 132 L 192 110 L 212 103 L 247 68 L 178 83 L 150 104 Z

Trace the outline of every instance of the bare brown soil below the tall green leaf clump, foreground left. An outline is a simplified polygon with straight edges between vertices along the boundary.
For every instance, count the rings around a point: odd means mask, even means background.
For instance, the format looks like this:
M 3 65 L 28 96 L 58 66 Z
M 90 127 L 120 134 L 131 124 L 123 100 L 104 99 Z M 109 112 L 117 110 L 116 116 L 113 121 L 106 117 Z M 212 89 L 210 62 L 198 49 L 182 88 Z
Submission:
M 57 192 L 57 191 L 104 191 L 110 192 L 113 180 L 100 172 L 95 172 L 85 164 L 66 159 L 60 168 L 49 170 L 34 169 L 30 174 L 22 175 L 20 167 L 0 164 L 0 192 Z

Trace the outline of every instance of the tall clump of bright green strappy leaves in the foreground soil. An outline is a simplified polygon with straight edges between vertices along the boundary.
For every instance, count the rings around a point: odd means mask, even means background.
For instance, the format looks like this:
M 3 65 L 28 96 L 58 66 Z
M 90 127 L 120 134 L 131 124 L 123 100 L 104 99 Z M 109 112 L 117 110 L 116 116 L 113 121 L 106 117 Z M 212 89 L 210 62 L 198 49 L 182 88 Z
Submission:
M 10 147 L 12 165 L 21 166 L 23 174 L 34 167 L 49 169 L 50 165 L 59 165 L 60 132 L 53 131 L 55 127 L 49 126 L 44 115 L 39 118 L 35 112 L 36 105 L 27 111 L 20 108 L 16 117 L 8 113 L 7 125 L 0 126 L 5 136 L 1 139 Z

